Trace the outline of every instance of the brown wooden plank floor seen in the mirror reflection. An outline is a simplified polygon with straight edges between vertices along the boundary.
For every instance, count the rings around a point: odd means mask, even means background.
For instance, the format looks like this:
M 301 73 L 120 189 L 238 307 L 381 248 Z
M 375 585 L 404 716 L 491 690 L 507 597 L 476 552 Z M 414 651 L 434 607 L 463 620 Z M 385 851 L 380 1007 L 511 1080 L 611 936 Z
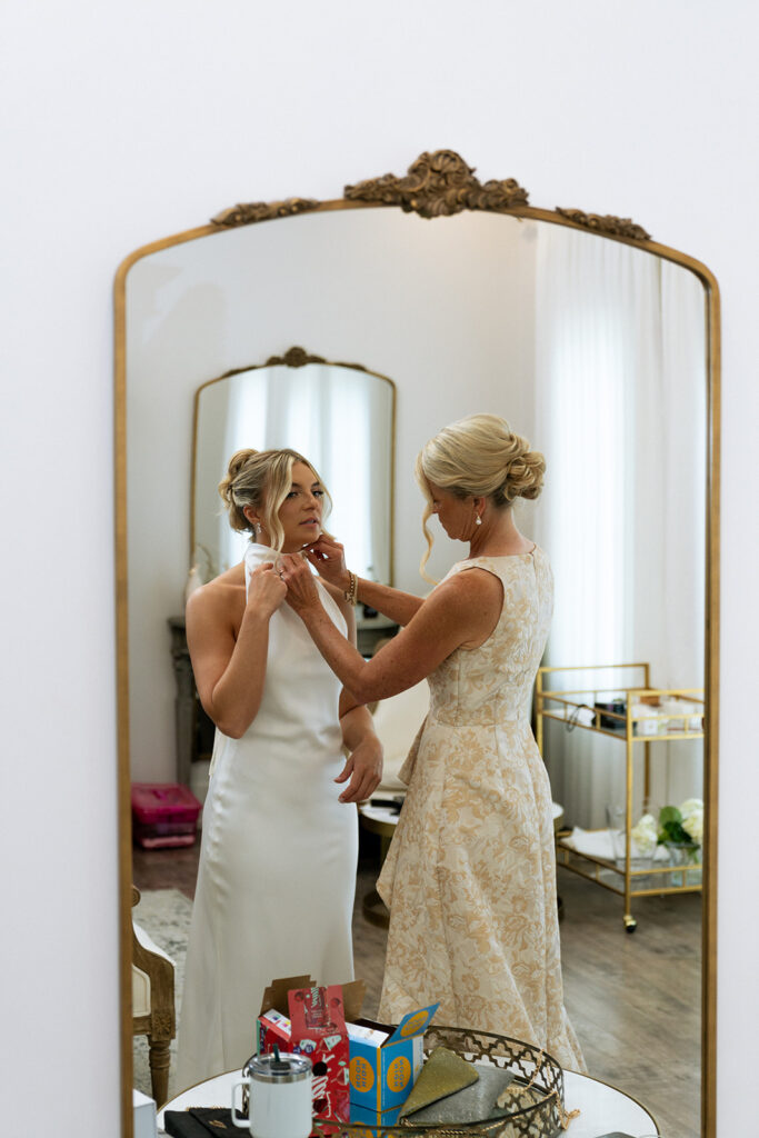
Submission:
M 369 924 L 361 900 L 377 876 L 379 849 L 362 832 L 354 910 L 356 976 L 364 1012 L 377 1013 L 386 932 Z M 134 850 L 139 889 L 195 892 L 199 848 Z M 665 1138 L 700 1133 L 701 899 L 641 898 L 637 930 L 622 926 L 621 898 L 559 871 L 564 1000 L 588 1072 L 642 1102 Z

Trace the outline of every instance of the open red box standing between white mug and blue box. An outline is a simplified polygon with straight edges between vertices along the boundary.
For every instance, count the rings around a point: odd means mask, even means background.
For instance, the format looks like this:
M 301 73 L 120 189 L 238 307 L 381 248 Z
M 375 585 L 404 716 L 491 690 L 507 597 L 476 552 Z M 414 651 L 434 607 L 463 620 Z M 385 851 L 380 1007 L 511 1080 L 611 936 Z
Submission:
M 313 1113 L 349 1120 L 349 1044 L 345 1020 L 361 1012 L 362 981 L 320 987 L 310 976 L 273 981 L 264 992 L 257 1021 L 259 1052 L 306 1055 L 313 1066 Z

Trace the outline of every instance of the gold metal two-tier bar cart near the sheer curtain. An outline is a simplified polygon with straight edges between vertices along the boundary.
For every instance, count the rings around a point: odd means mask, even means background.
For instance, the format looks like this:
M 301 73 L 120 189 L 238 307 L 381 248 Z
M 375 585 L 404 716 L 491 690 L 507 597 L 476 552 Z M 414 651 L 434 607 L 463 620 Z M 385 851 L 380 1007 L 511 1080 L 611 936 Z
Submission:
M 652 687 L 650 670 L 647 663 L 544 667 L 538 668 L 535 681 L 535 734 L 541 754 L 545 754 L 546 719 L 556 720 L 568 729 L 604 735 L 625 745 L 625 857 L 609 859 L 580 852 L 568 844 L 570 835 L 564 831 L 556 835 L 556 864 L 622 897 L 622 920 L 630 933 L 637 925 L 633 916 L 634 897 L 701 892 L 700 866 L 675 867 L 669 861 L 652 863 L 644 868 L 634 866 L 630 832 L 636 752 L 643 748 L 643 798 L 650 799 L 651 762 L 655 761 L 657 744 L 703 739 L 703 688 Z M 568 682 L 567 687 L 553 686 L 560 682 L 558 674 Z M 612 686 L 617 677 L 622 683 Z M 588 686 L 588 681 L 596 678 L 602 679 L 603 686 Z M 619 706 L 614 707 L 612 695 L 621 696 Z

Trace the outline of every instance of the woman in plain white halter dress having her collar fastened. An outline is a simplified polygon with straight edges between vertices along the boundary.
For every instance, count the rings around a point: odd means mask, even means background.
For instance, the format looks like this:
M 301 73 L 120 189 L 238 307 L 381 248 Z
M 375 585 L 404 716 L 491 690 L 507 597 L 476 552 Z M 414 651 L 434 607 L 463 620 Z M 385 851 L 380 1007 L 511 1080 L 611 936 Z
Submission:
M 245 1063 L 264 988 L 277 976 L 311 973 L 323 984 L 353 978 L 352 803 L 371 794 L 382 772 L 371 716 L 341 691 L 282 604 L 278 562 L 321 534 L 327 490 L 319 475 L 295 451 L 240 451 L 218 489 L 230 525 L 251 536 L 245 560 L 197 589 L 187 607 L 192 669 L 216 737 L 179 1032 L 180 1087 Z M 329 584 L 315 584 L 314 595 L 349 648 L 352 607 Z

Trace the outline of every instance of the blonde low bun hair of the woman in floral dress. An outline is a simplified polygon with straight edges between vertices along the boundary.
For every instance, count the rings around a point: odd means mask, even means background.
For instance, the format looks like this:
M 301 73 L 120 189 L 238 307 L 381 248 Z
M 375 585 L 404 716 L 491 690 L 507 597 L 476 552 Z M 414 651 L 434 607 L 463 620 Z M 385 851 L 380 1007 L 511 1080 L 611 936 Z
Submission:
M 429 483 L 460 498 L 488 497 L 496 510 L 509 510 L 518 497 L 536 498 L 543 489 L 545 459 L 530 451 L 526 438 L 515 435 L 498 415 L 469 415 L 460 419 L 426 443 L 416 459 L 416 481 L 427 498 L 422 529 L 427 552 L 432 550 L 432 534 L 427 522 L 432 513 Z

